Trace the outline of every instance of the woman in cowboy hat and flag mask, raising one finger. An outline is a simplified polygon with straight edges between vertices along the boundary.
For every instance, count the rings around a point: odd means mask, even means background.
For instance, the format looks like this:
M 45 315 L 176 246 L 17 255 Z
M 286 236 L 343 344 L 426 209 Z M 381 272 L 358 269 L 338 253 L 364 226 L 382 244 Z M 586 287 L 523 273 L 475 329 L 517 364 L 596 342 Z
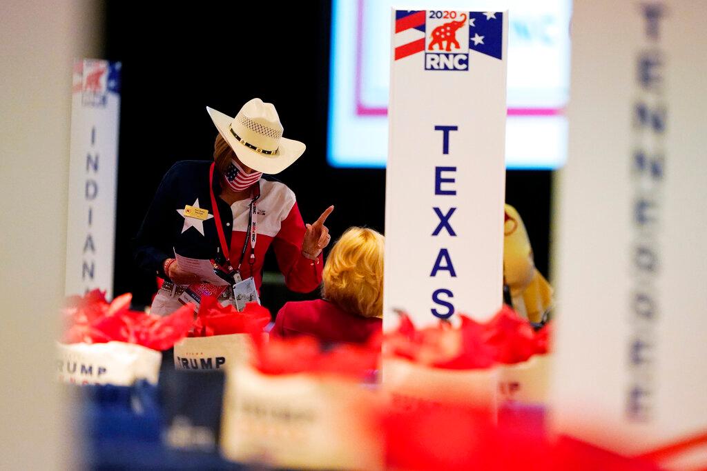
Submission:
M 287 287 L 315 290 L 322 280 L 322 249 L 331 239 L 324 222 L 334 207 L 305 225 L 294 193 L 262 178 L 286 169 L 305 145 L 282 136 L 275 107 L 259 98 L 243 105 L 235 118 L 206 110 L 218 129 L 214 162 L 173 165 L 134 239 L 138 265 L 165 279 L 151 311 L 174 311 L 185 287 L 201 282 L 175 254 L 213 260 L 223 278 L 252 277 L 259 290 L 265 252 L 272 246 Z M 232 299 L 233 291 L 221 298 Z

